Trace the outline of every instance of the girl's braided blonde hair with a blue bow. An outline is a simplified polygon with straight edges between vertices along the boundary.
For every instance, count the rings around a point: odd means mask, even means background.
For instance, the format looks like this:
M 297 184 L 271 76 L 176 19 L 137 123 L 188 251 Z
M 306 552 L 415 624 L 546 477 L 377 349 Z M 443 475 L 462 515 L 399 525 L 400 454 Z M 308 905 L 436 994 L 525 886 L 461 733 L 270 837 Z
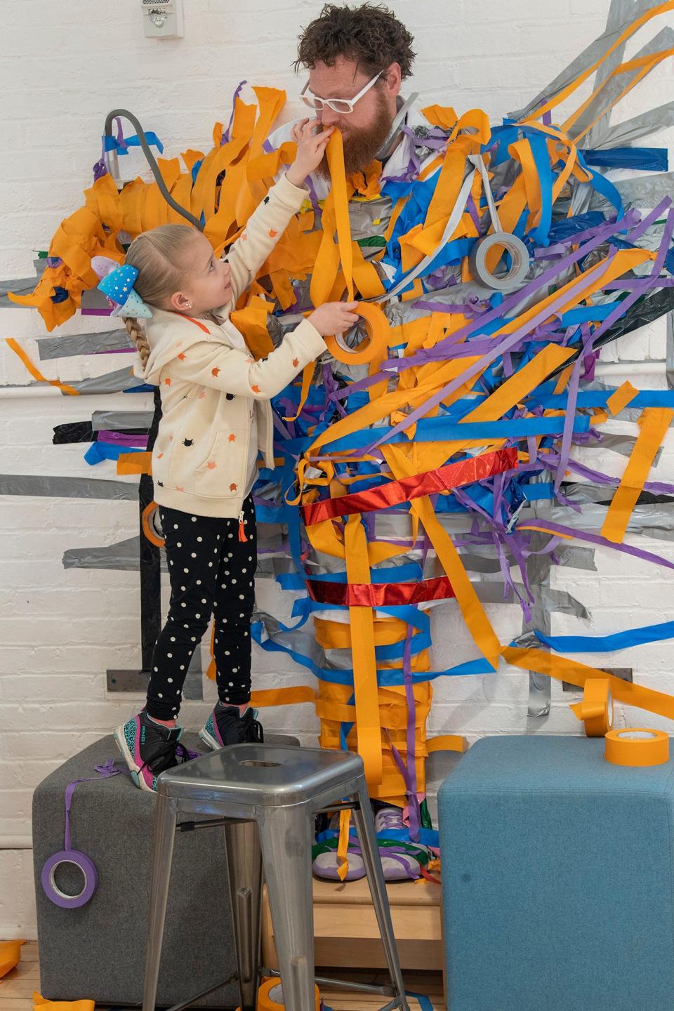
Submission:
M 124 263 L 135 267 L 138 272 L 133 287 L 143 302 L 162 308 L 163 303 L 180 290 L 188 269 L 185 247 L 196 234 L 188 224 L 162 224 L 133 240 Z M 131 316 L 126 316 L 124 323 L 145 368 L 150 358 L 146 332 Z

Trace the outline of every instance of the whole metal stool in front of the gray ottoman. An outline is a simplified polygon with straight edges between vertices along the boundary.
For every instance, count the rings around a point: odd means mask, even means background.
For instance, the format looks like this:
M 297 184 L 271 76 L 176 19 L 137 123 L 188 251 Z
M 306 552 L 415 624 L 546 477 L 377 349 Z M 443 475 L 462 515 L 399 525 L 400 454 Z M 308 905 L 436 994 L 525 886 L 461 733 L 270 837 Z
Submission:
M 409 1011 L 362 759 L 265 744 L 235 744 L 159 776 L 142 1011 L 155 1009 L 175 832 L 215 825 L 225 826 L 242 1011 L 255 1011 L 260 983 L 261 850 L 281 968 L 270 975 L 281 977 L 286 1011 L 314 1011 L 314 815 L 342 808 L 354 812 L 391 986 L 315 982 L 391 998 L 381 1011 Z M 179 824 L 179 814 L 209 819 Z

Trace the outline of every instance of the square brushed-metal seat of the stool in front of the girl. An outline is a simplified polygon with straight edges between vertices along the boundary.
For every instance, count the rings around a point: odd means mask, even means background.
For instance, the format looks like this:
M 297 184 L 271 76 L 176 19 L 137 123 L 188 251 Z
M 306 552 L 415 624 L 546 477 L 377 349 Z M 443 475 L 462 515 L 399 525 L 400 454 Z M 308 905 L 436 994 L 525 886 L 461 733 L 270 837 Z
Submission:
M 306 804 L 363 774 L 358 755 L 318 748 L 232 744 L 164 772 L 157 792 L 190 802 Z

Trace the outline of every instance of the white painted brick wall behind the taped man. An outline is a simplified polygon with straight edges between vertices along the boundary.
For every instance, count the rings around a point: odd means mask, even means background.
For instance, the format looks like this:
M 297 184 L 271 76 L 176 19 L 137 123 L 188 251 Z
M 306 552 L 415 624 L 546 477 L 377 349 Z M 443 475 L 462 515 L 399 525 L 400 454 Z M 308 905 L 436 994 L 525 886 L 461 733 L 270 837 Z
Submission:
M 532 0 L 393 0 L 392 6 L 415 34 L 414 88 L 428 101 L 452 104 L 458 111 L 480 105 L 495 121 L 523 105 L 603 30 L 608 0 L 559 0 L 554 6 Z M 139 7 L 138 0 L 4 0 L 1 277 L 28 275 L 30 251 L 44 248 L 62 217 L 81 204 L 109 109 L 125 106 L 135 112 L 165 142 L 168 156 L 186 147 L 208 150 L 212 124 L 226 122 L 242 78 L 285 87 L 290 101 L 284 116 L 298 111 L 298 85 L 290 67 L 294 43 L 299 26 L 319 11 L 320 0 L 249 0 L 245 5 L 185 0 L 185 37 L 167 41 L 143 37 Z M 665 23 L 674 23 L 671 15 L 669 21 L 661 18 L 658 28 Z M 642 31 L 628 56 L 654 31 Z M 658 105 L 671 93 L 670 63 L 623 102 L 614 121 Z M 670 137 L 657 141 L 667 144 Z M 142 172 L 140 156 L 127 156 L 124 168 L 125 175 Z M 62 332 L 107 326 L 89 317 L 69 321 Z M 0 309 L 0 337 L 27 341 L 28 350 L 29 339 L 43 335 L 39 316 L 29 310 Z M 613 357 L 649 356 L 664 357 L 661 327 L 627 341 Z M 56 376 L 60 369 L 63 378 L 74 379 L 107 371 L 111 361 L 72 358 L 58 368 L 46 362 L 43 371 Z M 643 386 L 664 384 L 661 375 L 640 379 Z M 1 353 L 0 383 L 25 381 L 15 357 Z M 85 420 L 100 407 L 146 406 L 149 398 L 25 397 L 0 403 L 3 472 L 83 476 L 88 472 L 83 447 L 54 447 L 53 426 Z M 634 426 L 623 429 L 634 434 Z M 670 437 L 654 479 L 672 479 L 673 456 Z M 114 465 L 100 464 L 92 476 L 114 478 Z M 35 785 L 63 759 L 108 733 L 132 708 L 128 697 L 106 696 L 104 672 L 138 662 L 137 575 L 65 571 L 61 559 L 67 548 L 111 544 L 132 536 L 135 528 L 132 501 L 0 498 L 1 838 L 27 838 Z M 647 546 L 674 558 L 671 544 L 649 540 Z M 596 557 L 598 573 L 561 569 L 553 574 L 555 586 L 591 609 L 594 630 L 612 632 L 671 617 L 671 571 L 601 550 Z M 261 603 L 277 613 L 288 606 L 269 582 L 261 586 Z M 518 608 L 489 611 L 503 641 L 519 632 Z M 582 631 L 582 624 L 555 615 L 553 632 Z M 434 625 L 435 666 L 474 656 L 456 609 L 439 610 Z M 579 659 L 633 665 L 643 683 L 674 691 L 669 655 L 665 644 Z M 279 673 L 293 682 L 306 679 L 290 661 L 280 658 L 274 665 L 271 675 L 269 658 L 256 656 L 257 686 L 278 683 Z M 527 719 L 526 695 L 526 675 L 511 668 L 489 678 L 439 682 L 430 729 L 465 733 L 471 741 L 486 733 L 578 731 L 561 686 L 554 685 L 552 713 L 543 721 Z M 206 703 L 188 703 L 185 723 L 196 727 L 206 710 Z M 633 715 L 620 713 L 619 719 Z M 316 728 L 308 707 L 268 711 L 265 723 L 306 740 Z M 434 777 L 444 767 L 434 756 Z M 34 936 L 30 856 L 29 850 L 0 851 L 0 936 Z

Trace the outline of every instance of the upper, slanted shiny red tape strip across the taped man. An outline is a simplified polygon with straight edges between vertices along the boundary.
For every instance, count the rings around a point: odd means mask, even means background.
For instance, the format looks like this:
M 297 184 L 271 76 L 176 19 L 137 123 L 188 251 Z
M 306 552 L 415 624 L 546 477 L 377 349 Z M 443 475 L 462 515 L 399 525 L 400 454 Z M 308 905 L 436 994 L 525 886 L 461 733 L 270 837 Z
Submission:
M 311 502 L 302 507 L 302 518 L 306 527 L 323 520 L 331 520 L 335 516 L 351 516 L 353 513 L 372 513 L 378 509 L 388 509 L 389 505 L 400 505 L 411 498 L 423 495 L 434 495 L 439 491 L 458 488 L 463 484 L 482 481 L 485 477 L 511 470 L 517 465 L 517 450 L 499 449 L 495 453 L 483 453 L 470 460 L 460 460 L 458 463 L 448 463 L 437 470 L 426 470 L 423 474 L 413 477 L 403 477 L 399 481 L 390 481 L 378 488 L 368 491 L 356 491 L 341 498 L 325 498 L 319 502 Z

